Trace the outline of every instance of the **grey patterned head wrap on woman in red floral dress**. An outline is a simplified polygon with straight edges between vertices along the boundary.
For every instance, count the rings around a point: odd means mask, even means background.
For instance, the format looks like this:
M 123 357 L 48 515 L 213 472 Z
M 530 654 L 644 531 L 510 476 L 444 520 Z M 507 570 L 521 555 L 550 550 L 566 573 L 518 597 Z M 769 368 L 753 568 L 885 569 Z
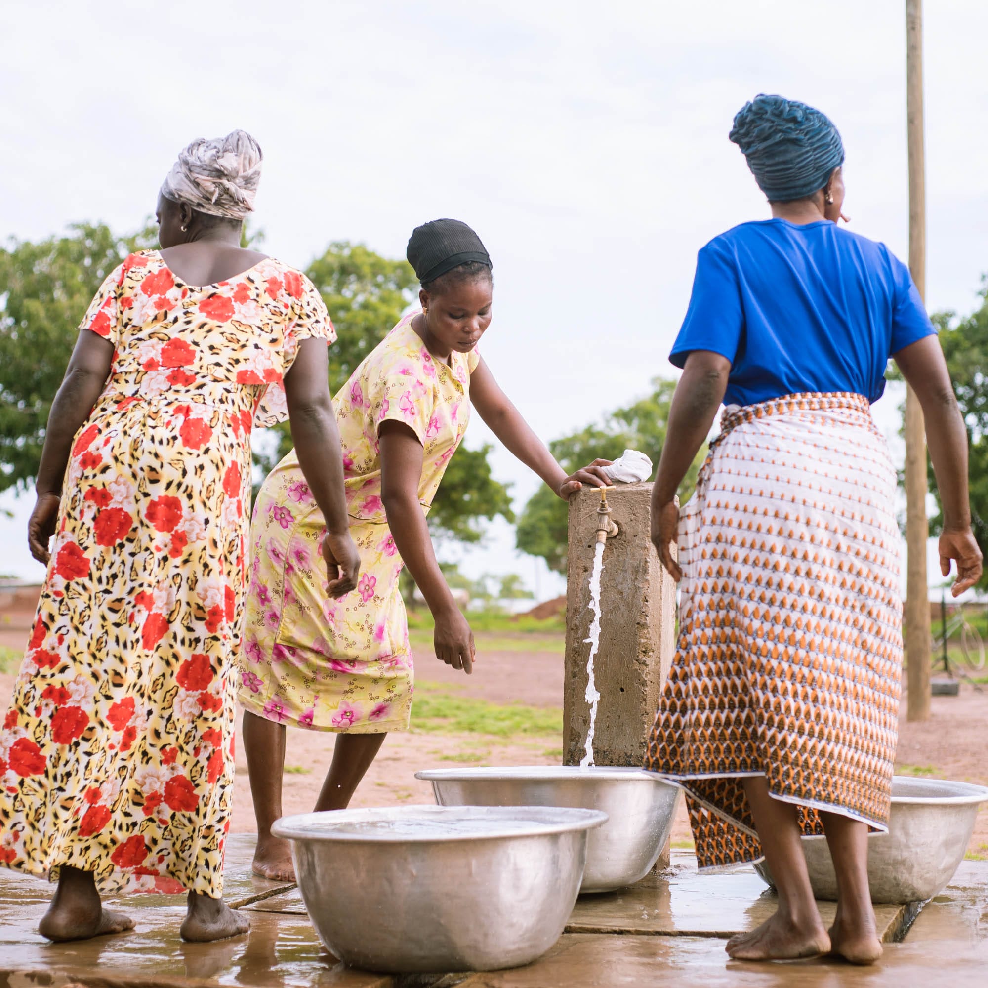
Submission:
M 243 219 L 254 208 L 264 155 L 246 130 L 199 137 L 179 153 L 161 194 L 210 216 Z

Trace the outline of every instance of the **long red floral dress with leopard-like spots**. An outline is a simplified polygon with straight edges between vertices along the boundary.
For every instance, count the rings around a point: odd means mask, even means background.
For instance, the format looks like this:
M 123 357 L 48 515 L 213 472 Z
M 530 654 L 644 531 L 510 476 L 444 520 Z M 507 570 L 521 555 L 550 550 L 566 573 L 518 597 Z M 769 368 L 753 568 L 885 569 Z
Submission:
M 335 335 L 278 261 L 192 287 L 156 251 L 107 278 L 81 328 L 116 352 L 74 441 L 0 729 L 0 864 L 218 897 L 251 428 L 286 417 L 298 341 Z

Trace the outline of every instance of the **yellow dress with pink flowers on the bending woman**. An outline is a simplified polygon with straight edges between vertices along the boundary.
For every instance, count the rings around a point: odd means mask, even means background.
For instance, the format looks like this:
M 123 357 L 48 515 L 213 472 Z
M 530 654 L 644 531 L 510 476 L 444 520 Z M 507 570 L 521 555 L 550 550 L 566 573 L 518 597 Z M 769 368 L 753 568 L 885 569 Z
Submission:
M 413 313 L 414 314 L 414 313 Z M 428 512 L 470 415 L 470 374 L 480 360 L 437 361 L 403 318 L 334 399 L 343 447 L 350 534 L 361 554 L 357 590 L 325 592 L 326 526 L 295 454 L 265 481 L 254 504 L 240 702 L 279 723 L 376 734 L 405 730 L 412 653 L 398 591 L 403 563 L 380 500 L 377 430 L 409 426 L 423 449 L 419 502 Z

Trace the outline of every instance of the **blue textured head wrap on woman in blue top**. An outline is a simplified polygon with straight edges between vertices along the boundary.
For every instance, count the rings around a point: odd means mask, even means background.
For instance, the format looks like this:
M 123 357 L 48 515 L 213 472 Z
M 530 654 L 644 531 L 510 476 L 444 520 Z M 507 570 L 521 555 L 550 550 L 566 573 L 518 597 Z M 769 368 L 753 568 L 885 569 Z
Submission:
M 730 139 L 741 148 L 758 187 L 774 203 L 819 192 L 844 163 L 837 127 L 819 110 L 764 93 L 734 118 Z

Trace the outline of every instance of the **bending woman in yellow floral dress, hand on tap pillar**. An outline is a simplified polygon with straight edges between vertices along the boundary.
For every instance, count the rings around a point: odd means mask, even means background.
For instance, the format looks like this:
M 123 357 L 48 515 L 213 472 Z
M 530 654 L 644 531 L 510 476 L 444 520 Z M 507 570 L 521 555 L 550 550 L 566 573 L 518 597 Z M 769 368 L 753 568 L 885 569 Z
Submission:
M 281 816 L 285 725 L 335 731 L 317 810 L 346 806 L 387 731 L 408 727 L 412 653 L 398 592 L 407 565 L 436 619 L 436 655 L 469 673 L 473 637 L 443 579 L 425 516 L 466 431 L 470 406 L 560 497 L 607 477 L 597 460 L 571 477 L 498 387 L 477 343 L 491 321 L 487 251 L 465 223 L 417 227 L 408 260 L 422 311 L 405 316 L 336 395 L 356 593 L 329 599 L 314 566 L 325 522 L 295 453 L 254 506 L 240 701 L 258 822 L 255 870 L 293 877 Z

